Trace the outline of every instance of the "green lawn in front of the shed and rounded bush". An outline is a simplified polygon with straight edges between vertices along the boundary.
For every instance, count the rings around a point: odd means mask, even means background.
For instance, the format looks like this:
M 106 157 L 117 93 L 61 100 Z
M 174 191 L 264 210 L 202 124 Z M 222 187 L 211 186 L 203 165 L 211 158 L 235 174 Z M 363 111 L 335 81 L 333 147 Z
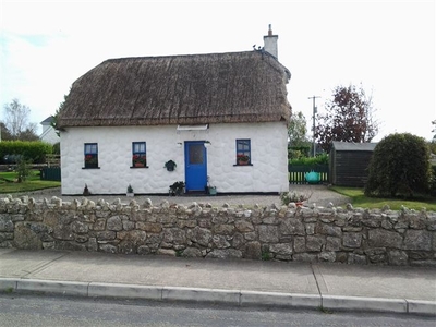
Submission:
M 342 186 L 331 186 L 332 191 L 339 194 L 349 196 L 351 198 L 351 204 L 353 207 L 380 209 L 385 205 L 388 205 L 392 210 L 401 209 L 401 206 L 405 206 L 409 209 L 421 210 L 426 208 L 427 211 L 436 211 L 436 198 L 428 198 L 426 201 L 405 201 L 398 198 L 376 198 L 367 197 L 363 194 L 363 189 L 356 187 L 342 187 Z

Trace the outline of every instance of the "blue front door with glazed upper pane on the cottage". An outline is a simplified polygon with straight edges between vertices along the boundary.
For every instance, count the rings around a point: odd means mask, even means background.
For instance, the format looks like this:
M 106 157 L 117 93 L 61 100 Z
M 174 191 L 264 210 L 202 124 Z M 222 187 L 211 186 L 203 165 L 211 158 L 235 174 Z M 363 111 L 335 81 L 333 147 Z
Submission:
M 205 191 L 207 185 L 207 164 L 204 142 L 185 142 L 184 158 L 186 192 Z

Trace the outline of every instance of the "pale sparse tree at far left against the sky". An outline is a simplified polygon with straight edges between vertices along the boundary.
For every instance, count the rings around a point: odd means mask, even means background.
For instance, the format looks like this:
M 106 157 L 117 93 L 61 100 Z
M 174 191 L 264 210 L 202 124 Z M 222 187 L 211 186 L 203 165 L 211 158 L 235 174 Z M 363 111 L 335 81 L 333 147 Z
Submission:
M 31 109 L 20 104 L 16 98 L 11 104 L 4 105 L 4 124 L 11 133 L 12 140 L 19 140 L 22 133 L 23 135 L 33 134 L 36 136 L 36 124 L 28 122 L 29 114 Z

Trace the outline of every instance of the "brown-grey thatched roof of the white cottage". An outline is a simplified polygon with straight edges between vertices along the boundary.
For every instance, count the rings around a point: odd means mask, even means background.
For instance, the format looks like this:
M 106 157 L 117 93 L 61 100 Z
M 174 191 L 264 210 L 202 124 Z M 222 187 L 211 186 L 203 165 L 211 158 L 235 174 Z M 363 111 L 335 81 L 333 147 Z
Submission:
M 261 51 L 111 59 L 74 82 L 58 128 L 288 121 L 289 78 Z

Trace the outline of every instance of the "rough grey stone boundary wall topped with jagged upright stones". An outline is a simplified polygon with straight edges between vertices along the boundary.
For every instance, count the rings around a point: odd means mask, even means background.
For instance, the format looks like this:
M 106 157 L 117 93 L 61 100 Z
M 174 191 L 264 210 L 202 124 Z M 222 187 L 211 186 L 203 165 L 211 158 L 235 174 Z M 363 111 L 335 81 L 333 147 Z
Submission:
M 0 198 L 0 246 L 434 266 L 436 213 L 8 196 Z

